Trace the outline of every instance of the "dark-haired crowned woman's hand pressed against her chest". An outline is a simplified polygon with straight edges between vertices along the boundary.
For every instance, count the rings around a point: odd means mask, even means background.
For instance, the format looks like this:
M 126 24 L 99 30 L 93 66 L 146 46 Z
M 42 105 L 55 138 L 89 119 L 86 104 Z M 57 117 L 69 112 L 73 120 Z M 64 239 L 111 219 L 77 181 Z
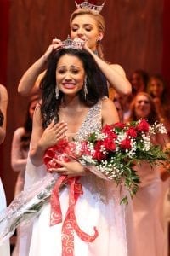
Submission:
M 65 122 L 56 123 L 54 120 L 44 130 L 39 145 L 42 148 L 50 148 L 56 145 L 61 139 L 66 138 L 65 132 L 67 131 L 67 124 Z

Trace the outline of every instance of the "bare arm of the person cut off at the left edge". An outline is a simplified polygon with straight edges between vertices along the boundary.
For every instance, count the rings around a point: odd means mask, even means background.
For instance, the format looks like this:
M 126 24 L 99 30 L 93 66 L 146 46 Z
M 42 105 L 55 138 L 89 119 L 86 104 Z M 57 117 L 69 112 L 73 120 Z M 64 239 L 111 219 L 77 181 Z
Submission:
M 0 109 L 3 113 L 3 125 L 0 126 L 0 144 L 3 143 L 6 135 L 7 125 L 7 106 L 8 106 L 8 93 L 6 88 L 0 84 Z

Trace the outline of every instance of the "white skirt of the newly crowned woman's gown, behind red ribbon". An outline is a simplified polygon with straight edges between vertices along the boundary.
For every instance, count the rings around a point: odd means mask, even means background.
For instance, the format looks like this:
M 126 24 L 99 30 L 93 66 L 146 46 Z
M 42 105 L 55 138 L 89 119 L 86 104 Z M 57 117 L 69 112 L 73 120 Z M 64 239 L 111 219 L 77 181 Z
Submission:
M 92 192 L 93 188 L 85 184 L 88 183 L 88 177 L 83 177 L 83 195 L 78 198 L 75 212 L 77 223 L 80 228 L 94 235 L 94 226 L 99 232 L 99 236 L 93 242 L 82 241 L 74 233 L 75 256 L 127 256 L 127 234 L 125 224 L 125 206 L 120 205 L 120 188 L 111 189 L 113 183 L 107 183 L 100 193 Z M 104 184 L 105 182 L 102 181 Z M 109 188 L 110 187 L 110 188 Z M 101 187 L 102 188 L 102 187 Z M 118 191 L 119 190 L 119 191 Z M 113 194 L 111 193 L 113 192 Z M 112 195 L 111 195 L 111 194 Z M 105 195 L 102 197 L 102 194 Z M 68 208 L 67 188 L 60 193 L 61 211 L 63 219 Z M 49 225 L 50 205 L 49 203 L 43 208 L 39 218 L 33 224 L 31 237 L 31 247 L 29 256 L 61 256 L 61 229 L 62 224 L 54 226 Z M 131 254 L 132 255 L 132 254 Z

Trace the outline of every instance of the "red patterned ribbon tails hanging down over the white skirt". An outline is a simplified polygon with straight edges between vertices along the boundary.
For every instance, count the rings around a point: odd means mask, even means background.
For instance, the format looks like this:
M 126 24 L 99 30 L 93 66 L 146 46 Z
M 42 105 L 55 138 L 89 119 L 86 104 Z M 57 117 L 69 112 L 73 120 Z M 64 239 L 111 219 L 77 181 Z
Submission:
M 52 195 L 50 198 L 51 203 L 51 215 L 50 215 L 50 225 L 59 224 L 62 222 L 62 212 L 59 202 L 59 188 L 65 183 L 70 186 L 69 192 L 69 207 L 65 215 L 65 220 L 62 226 L 62 256 L 73 256 L 74 255 L 74 231 L 77 233 L 82 241 L 92 242 L 98 236 L 98 231 L 94 227 L 94 236 L 90 236 L 83 232 L 77 224 L 77 218 L 75 216 L 74 207 L 76 205 L 77 199 L 83 194 L 82 184 L 78 183 L 79 177 L 59 177 L 56 182 Z

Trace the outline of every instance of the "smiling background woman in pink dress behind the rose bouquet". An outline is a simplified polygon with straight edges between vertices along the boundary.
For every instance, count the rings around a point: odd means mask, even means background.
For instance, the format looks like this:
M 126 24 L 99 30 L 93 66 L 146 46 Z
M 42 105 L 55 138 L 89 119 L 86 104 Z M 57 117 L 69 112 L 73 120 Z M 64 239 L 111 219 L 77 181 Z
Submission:
M 150 124 L 159 121 L 151 96 L 140 92 L 131 105 L 129 121 L 147 119 Z M 164 135 L 152 137 L 156 144 L 165 143 Z M 163 146 L 163 145 L 162 145 Z M 162 182 L 160 166 L 143 163 L 135 166 L 140 177 L 139 191 L 133 197 L 133 223 L 138 256 L 162 256 L 165 234 L 161 224 Z

